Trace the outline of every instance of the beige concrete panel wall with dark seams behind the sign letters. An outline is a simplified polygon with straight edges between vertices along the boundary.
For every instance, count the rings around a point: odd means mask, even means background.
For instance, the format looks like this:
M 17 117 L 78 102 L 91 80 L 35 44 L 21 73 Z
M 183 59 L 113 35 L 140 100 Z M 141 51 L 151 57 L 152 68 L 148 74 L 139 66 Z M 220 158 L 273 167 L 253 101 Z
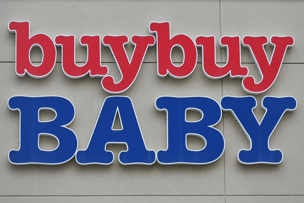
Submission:
M 0 201 L 1 202 L 303 202 L 304 143 L 303 82 L 304 20 L 301 1 L 1 1 L 0 12 Z M 237 152 L 249 149 L 245 134 L 229 112 L 215 126 L 226 142 L 223 156 L 204 166 L 173 165 L 121 166 L 117 156 L 125 146 L 108 146 L 115 154 L 110 166 L 80 166 L 75 159 L 58 166 L 9 163 L 8 152 L 19 148 L 19 114 L 7 107 L 14 95 L 58 95 L 71 100 L 76 116 L 69 128 L 78 136 L 78 149 L 88 145 L 104 99 L 110 94 L 101 87 L 100 78 L 69 79 L 61 70 L 61 48 L 57 48 L 54 71 L 44 79 L 15 74 L 15 34 L 8 31 L 11 20 L 30 22 L 30 34 L 46 33 L 53 40 L 58 34 L 76 36 L 76 61 L 86 60 L 86 48 L 79 45 L 82 35 L 147 35 L 152 21 L 171 23 L 171 35 L 215 35 L 216 62 L 226 62 L 226 50 L 218 41 L 223 35 L 291 35 L 295 44 L 286 52 L 274 85 L 255 96 L 254 110 L 261 120 L 259 104 L 264 96 L 294 96 L 298 107 L 286 112 L 270 138 L 271 149 L 284 155 L 278 165 L 245 166 L 237 162 Z M 109 48 L 102 47 L 102 65 L 120 79 Z M 271 56 L 272 47 L 265 50 Z M 129 56 L 133 46 L 126 46 Z M 242 62 L 249 74 L 260 79 L 247 48 L 241 48 Z M 138 117 L 148 149 L 166 149 L 166 115 L 154 109 L 158 96 L 209 96 L 219 102 L 225 95 L 246 96 L 241 79 L 211 80 L 202 72 L 202 50 L 198 63 L 186 79 L 157 76 L 156 46 L 148 48 L 137 79 L 121 95 L 129 96 Z M 41 51 L 31 53 L 31 61 L 41 60 Z M 181 62 L 176 50 L 174 62 Z M 45 115 L 47 117 L 47 115 Z M 194 115 L 193 115 L 194 116 Z M 52 140 L 41 144 L 50 147 Z M 199 147 L 197 139 L 189 141 Z

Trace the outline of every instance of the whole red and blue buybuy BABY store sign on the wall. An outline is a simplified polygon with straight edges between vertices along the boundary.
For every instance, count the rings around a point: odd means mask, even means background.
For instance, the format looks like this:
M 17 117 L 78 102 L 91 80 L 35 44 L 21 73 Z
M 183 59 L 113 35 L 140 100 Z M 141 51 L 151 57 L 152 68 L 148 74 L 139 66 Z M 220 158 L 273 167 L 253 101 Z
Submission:
M 77 79 L 89 74 L 90 77 L 102 77 L 102 88 L 111 94 L 125 92 L 136 79 L 148 47 L 157 44 L 157 74 L 159 77 L 170 75 L 182 79 L 189 76 L 197 62 L 197 47 L 202 48 L 202 70 L 211 79 L 243 78 L 242 87 L 250 94 L 260 94 L 275 82 L 285 52 L 294 44 L 291 36 L 273 36 L 270 44 L 274 47 L 269 61 L 264 51 L 268 43 L 265 36 L 223 36 L 220 46 L 227 48 L 227 63 L 219 67 L 215 63 L 215 37 L 198 36 L 193 41 L 185 34 L 171 37 L 169 22 L 152 22 L 149 32 L 153 35 L 131 37 L 134 52 L 129 60 L 124 45 L 129 39 L 126 35 L 100 38 L 99 35 L 83 35 L 80 44 L 88 49 L 85 65 L 75 64 L 75 36 L 57 35 L 54 41 L 46 34 L 38 33 L 29 37 L 29 22 L 11 21 L 9 31 L 16 32 L 16 74 L 26 74 L 33 78 L 47 77 L 54 69 L 57 53 L 56 47 L 62 47 L 62 70 L 69 78 Z M 115 83 L 108 68 L 101 65 L 102 44 L 112 51 L 122 79 Z M 256 83 L 248 76 L 248 68 L 241 65 L 240 46 L 248 47 L 261 73 L 261 81 Z M 38 46 L 43 58 L 40 65 L 33 65 L 29 58 L 30 50 Z M 173 47 L 181 48 L 183 62 L 180 66 L 173 64 L 171 51 Z M 297 101 L 292 96 L 265 96 L 261 107 L 265 110 L 260 123 L 253 113 L 257 102 L 253 96 L 224 96 L 220 103 L 204 96 L 161 96 L 155 101 L 155 109 L 167 113 L 167 149 L 148 150 L 138 124 L 133 103 L 127 96 L 109 96 L 105 99 L 95 124 L 91 139 L 84 150 L 78 149 L 78 139 L 74 131 L 67 128 L 75 116 L 74 105 L 70 100 L 60 96 L 12 96 L 8 101 L 9 109 L 20 112 L 20 148 L 9 152 L 12 164 L 47 164 L 55 165 L 69 161 L 74 156 L 81 165 L 109 165 L 114 160 L 111 151 L 105 149 L 107 144 L 125 144 L 126 151 L 119 153 L 119 163 L 123 165 L 158 163 L 168 164 L 208 164 L 219 159 L 225 148 L 223 134 L 213 128 L 222 117 L 223 111 L 230 111 L 236 118 L 250 142 L 250 149 L 242 149 L 237 160 L 242 164 L 278 164 L 283 154 L 279 149 L 269 149 L 269 137 L 285 111 L 295 110 Z M 40 121 L 40 110 L 52 110 L 56 117 L 52 121 Z M 196 110 L 202 118 L 187 121 L 187 110 Z M 119 115 L 122 129 L 113 129 L 116 114 Z M 39 135 L 50 135 L 57 139 L 54 150 L 39 148 Z M 196 135 L 205 141 L 201 150 L 190 150 L 186 145 L 187 135 Z

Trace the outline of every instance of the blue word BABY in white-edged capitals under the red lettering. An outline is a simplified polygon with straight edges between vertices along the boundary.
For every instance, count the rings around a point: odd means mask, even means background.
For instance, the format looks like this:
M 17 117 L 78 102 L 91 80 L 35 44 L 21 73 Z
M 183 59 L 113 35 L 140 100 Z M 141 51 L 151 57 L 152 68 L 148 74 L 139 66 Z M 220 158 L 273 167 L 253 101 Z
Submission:
M 74 156 L 81 165 L 109 165 L 114 160 L 107 144 L 125 144 L 126 151 L 119 153 L 123 165 L 160 164 L 208 164 L 222 156 L 225 148 L 223 134 L 213 128 L 222 117 L 222 110 L 230 111 L 237 119 L 250 142 L 250 149 L 242 149 L 237 160 L 242 164 L 278 164 L 282 162 L 281 150 L 269 149 L 269 137 L 285 111 L 292 111 L 297 101 L 292 96 L 265 96 L 261 107 L 265 110 L 260 123 L 253 113 L 257 101 L 253 96 L 224 96 L 220 103 L 209 97 L 161 96 L 155 101 L 158 111 L 167 113 L 167 149 L 148 150 L 137 121 L 133 103 L 126 96 L 109 96 L 105 99 L 97 118 L 88 146 L 78 150 L 78 139 L 74 131 L 67 128 L 75 116 L 74 105 L 60 96 L 13 96 L 8 101 L 11 110 L 20 112 L 20 147 L 9 152 L 12 164 L 62 164 Z M 56 117 L 51 121 L 40 121 L 40 110 L 52 110 Z M 202 117 L 198 121 L 187 121 L 186 111 L 196 110 Z M 115 116 L 119 115 L 122 129 L 113 129 Z M 39 148 L 39 136 L 49 135 L 57 139 L 54 150 Z M 187 148 L 187 135 L 202 138 L 205 147 L 201 150 Z

